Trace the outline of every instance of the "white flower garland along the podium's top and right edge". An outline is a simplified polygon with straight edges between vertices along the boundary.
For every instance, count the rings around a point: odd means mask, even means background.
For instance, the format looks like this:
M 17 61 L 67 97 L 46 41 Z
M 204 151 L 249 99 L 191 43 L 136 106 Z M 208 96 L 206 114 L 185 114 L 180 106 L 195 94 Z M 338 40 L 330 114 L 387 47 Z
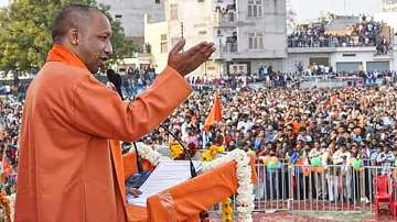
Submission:
M 242 149 L 234 149 L 221 158 L 213 162 L 203 163 L 203 171 L 210 170 L 222 164 L 235 160 L 237 163 L 237 211 L 238 218 L 244 222 L 253 221 L 254 204 L 254 185 L 251 182 L 251 168 L 249 165 L 249 157 L 246 152 Z

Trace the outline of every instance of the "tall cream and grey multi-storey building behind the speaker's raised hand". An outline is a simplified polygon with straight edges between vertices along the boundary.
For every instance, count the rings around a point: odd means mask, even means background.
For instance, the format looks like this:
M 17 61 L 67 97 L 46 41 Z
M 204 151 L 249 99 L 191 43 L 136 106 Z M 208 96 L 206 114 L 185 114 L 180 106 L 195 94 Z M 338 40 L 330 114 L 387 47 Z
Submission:
M 261 65 L 281 70 L 287 57 L 286 0 L 167 0 L 164 15 L 162 27 L 144 24 L 153 60 L 167 60 L 161 57 L 182 36 L 186 48 L 202 41 L 215 44 L 217 51 L 194 75 L 254 74 Z M 152 26 L 165 26 L 167 33 L 149 32 Z

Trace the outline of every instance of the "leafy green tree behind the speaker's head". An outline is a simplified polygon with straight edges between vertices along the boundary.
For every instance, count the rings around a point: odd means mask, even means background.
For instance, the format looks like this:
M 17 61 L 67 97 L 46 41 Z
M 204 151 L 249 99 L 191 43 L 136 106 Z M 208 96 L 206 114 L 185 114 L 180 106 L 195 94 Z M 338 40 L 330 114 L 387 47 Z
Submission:
M 97 5 L 95 0 L 11 0 L 9 7 L 0 9 L 0 70 L 21 73 L 41 67 L 52 45 L 53 19 L 72 3 Z M 110 15 L 108 5 L 98 8 L 114 32 L 110 63 L 131 56 L 137 47 L 125 36 L 120 22 Z

